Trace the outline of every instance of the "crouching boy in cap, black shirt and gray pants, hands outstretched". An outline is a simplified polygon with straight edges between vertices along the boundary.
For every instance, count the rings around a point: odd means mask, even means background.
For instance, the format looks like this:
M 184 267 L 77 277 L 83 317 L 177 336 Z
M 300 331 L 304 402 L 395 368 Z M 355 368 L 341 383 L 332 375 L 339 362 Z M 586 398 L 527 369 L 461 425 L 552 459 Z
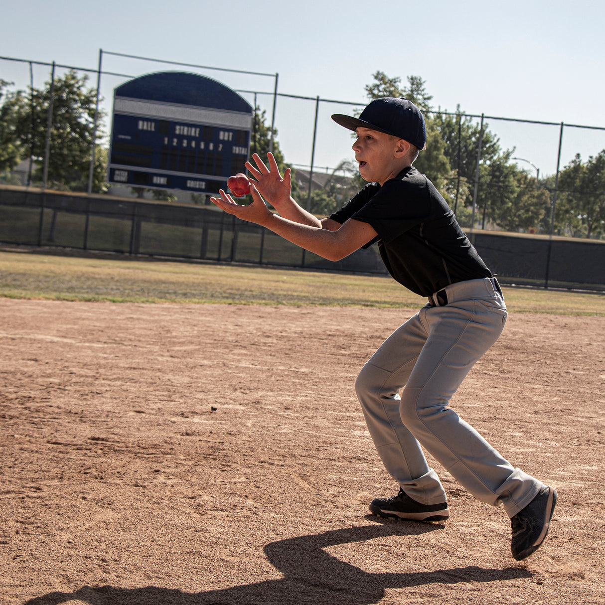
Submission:
M 450 516 L 445 491 L 420 445 L 471 494 L 505 508 L 516 560 L 532 554 L 548 532 L 557 501 L 544 485 L 500 456 L 448 407 L 468 371 L 502 333 L 502 290 L 433 184 L 413 162 L 426 142 L 422 114 L 410 101 L 373 100 L 359 118 L 335 114 L 356 132 L 359 174 L 369 184 L 329 218 L 318 220 L 290 197 L 290 170 L 282 178 L 269 154 L 246 163 L 256 179 L 252 203 L 239 206 L 221 191 L 217 206 L 260 224 L 328 260 L 378 241 L 391 276 L 427 306 L 378 348 L 356 381 L 368 430 L 399 493 L 376 498 L 373 514 L 417 521 Z M 272 214 L 261 192 L 279 215 Z M 400 396 L 401 391 L 401 396 Z

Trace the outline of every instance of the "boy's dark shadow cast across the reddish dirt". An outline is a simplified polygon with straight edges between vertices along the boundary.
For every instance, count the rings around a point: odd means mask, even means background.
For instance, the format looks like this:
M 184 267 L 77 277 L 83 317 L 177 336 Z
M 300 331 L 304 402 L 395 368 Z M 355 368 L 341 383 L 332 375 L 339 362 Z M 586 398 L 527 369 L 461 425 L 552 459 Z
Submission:
M 371 518 L 375 519 L 375 517 Z M 324 548 L 330 546 L 361 542 L 387 535 L 419 535 L 428 531 L 437 531 L 442 527 L 420 523 L 387 522 L 272 542 L 265 546 L 264 552 L 269 561 L 284 575 L 281 580 L 266 580 L 198 593 L 155 586 L 134 589 L 84 586 L 72 593 L 51 592 L 28 600 L 24 605 L 59 605 L 72 600 L 90 605 L 246 605 L 249 603 L 369 605 L 378 603 L 384 598 L 385 589 L 388 588 L 531 577 L 529 571 L 517 567 L 485 569 L 467 566 L 411 573 L 368 573 L 324 551 Z M 378 559 L 373 561 L 373 563 L 379 562 Z M 217 564 L 218 573 L 220 569 Z

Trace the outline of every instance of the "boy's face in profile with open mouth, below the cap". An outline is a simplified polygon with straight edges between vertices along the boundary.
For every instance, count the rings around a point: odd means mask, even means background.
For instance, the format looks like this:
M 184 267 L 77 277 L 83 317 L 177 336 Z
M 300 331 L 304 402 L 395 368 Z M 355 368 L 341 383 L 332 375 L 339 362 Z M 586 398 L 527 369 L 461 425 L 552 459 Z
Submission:
M 359 162 L 359 174 L 369 183 L 384 185 L 390 178 L 396 177 L 405 168 L 405 152 L 402 149 L 409 143 L 370 128 L 357 128 L 357 139 L 353 143 L 355 159 Z

